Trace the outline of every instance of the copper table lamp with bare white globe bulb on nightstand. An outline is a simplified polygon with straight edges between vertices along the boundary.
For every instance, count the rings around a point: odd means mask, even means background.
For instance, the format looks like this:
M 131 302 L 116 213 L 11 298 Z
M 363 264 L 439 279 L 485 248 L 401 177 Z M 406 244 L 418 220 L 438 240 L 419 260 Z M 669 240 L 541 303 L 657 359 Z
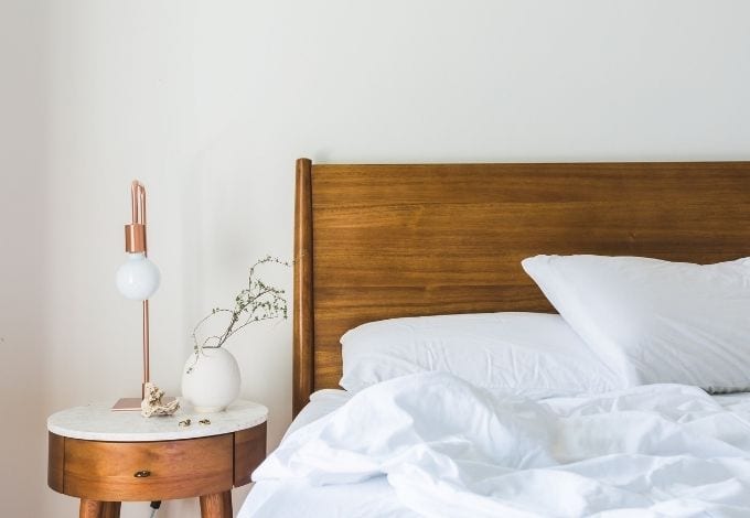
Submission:
M 148 258 L 146 239 L 146 188 L 137 180 L 130 185 L 132 223 L 125 226 L 128 260 L 117 270 L 117 289 L 127 299 L 143 303 L 143 382 L 140 398 L 121 398 L 113 410 L 140 410 L 149 379 L 149 298 L 159 288 L 159 268 Z

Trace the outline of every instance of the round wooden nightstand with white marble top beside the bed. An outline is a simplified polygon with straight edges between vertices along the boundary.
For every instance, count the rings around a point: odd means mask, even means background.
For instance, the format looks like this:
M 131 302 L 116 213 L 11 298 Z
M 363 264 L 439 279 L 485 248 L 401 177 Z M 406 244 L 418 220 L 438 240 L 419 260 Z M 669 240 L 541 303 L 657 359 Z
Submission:
M 200 497 L 203 518 L 232 518 L 232 488 L 249 483 L 266 457 L 266 407 L 237 401 L 223 412 L 188 407 L 147 419 L 110 404 L 47 419 L 47 484 L 81 498 L 81 518 L 118 518 L 121 501 L 191 497 Z

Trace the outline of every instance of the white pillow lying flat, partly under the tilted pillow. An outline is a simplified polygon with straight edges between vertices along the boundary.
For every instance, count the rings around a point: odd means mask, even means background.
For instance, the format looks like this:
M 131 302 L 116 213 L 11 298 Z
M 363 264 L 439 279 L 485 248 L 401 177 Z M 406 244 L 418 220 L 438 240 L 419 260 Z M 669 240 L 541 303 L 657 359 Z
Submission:
M 531 398 L 594 393 L 625 382 L 555 314 L 482 313 L 371 322 L 341 338 L 341 386 L 357 391 L 397 376 L 451 373 Z

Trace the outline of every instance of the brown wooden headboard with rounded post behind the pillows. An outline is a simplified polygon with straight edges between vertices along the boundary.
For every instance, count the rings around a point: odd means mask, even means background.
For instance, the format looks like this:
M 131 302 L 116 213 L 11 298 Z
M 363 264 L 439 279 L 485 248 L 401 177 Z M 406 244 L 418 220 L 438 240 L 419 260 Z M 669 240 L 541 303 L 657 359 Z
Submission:
M 364 322 L 551 306 L 537 253 L 750 256 L 750 162 L 297 162 L 293 411 L 338 387 Z

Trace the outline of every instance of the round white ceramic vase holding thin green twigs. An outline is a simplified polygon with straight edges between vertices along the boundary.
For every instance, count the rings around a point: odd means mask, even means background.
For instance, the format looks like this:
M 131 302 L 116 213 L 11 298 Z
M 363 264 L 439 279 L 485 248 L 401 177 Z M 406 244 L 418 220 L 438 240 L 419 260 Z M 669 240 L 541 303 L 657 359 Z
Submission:
M 204 348 L 185 361 L 182 397 L 196 412 L 219 412 L 239 396 L 239 365 L 232 353 L 224 347 Z

